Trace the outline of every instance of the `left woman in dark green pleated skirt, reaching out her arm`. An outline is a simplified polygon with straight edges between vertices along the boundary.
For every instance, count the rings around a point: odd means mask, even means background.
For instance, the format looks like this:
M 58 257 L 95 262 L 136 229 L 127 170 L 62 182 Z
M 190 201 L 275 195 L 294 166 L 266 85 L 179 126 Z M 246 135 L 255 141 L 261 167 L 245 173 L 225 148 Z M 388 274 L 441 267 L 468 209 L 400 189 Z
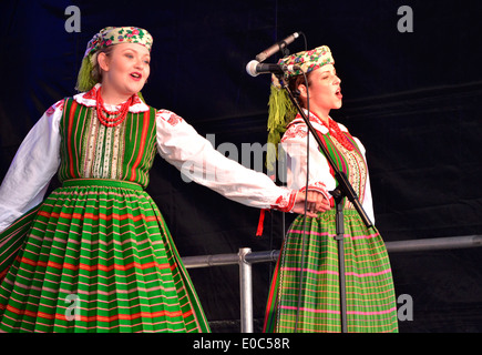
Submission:
M 154 201 L 156 152 L 191 179 L 255 207 L 329 207 L 226 159 L 182 118 L 140 99 L 151 34 L 105 28 L 89 42 L 82 93 L 57 102 L 0 186 L 0 332 L 208 332 Z M 47 199 L 58 172 L 62 187 Z M 311 213 L 312 214 L 312 213 Z

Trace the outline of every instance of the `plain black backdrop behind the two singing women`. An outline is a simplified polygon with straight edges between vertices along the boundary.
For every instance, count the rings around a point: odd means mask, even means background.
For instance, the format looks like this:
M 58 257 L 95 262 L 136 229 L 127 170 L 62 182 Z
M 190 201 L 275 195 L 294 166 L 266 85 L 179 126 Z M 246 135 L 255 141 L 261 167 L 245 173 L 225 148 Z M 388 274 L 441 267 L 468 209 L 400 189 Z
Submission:
M 68 6 L 81 31 L 64 28 Z M 400 32 L 401 6 L 413 32 Z M 328 44 L 342 80 L 332 116 L 368 150 L 377 226 L 386 241 L 481 234 L 482 3 L 476 1 L 2 1 L 0 11 L 0 178 L 29 129 L 74 92 L 86 42 L 106 26 L 154 37 L 143 94 L 170 109 L 216 148 L 266 142 L 269 78 L 245 65 L 302 31 Z M 304 50 L 304 41 L 289 47 Z M 273 62 L 277 57 L 271 58 Z M 269 60 L 268 60 L 269 61 Z M 253 166 L 252 166 L 253 168 Z M 51 189 L 58 184 L 52 181 Z M 271 213 L 256 237 L 258 211 L 227 201 L 156 159 L 148 192 L 182 256 L 279 248 L 293 215 Z M 413 298 L 402 332 L 482 331 L 480 248 L 392 254 L 398 295 Z M 273 264 L 254 265 L 259 332 Z M 237 266 L 191 270 L 214 332 L 237 332 Z

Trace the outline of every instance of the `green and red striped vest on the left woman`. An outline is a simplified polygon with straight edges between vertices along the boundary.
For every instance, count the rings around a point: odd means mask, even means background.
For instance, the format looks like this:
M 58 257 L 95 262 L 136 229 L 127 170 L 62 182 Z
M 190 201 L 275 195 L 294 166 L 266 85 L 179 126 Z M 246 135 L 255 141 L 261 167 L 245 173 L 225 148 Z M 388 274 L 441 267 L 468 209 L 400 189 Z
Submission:
M 156 154 L 155 109 L 129 112 L 117 126 L 103 125 L 95 108 L 65 99 L 60 123 L 60 181 L 111 179 L 148 184 Z

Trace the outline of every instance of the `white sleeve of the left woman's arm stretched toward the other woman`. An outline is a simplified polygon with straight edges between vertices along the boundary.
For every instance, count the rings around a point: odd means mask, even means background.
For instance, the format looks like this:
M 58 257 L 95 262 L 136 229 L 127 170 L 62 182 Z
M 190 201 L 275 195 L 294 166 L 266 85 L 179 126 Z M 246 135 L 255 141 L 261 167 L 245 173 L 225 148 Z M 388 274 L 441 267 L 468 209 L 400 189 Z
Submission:
M 175 113 L 160 110 L 156 130 L 160 155 L 181 171 L 184 181 L 194 181 L 248 206 L 291 211 L 295 191 L 277 186 L 266 174 L 221 154 Z

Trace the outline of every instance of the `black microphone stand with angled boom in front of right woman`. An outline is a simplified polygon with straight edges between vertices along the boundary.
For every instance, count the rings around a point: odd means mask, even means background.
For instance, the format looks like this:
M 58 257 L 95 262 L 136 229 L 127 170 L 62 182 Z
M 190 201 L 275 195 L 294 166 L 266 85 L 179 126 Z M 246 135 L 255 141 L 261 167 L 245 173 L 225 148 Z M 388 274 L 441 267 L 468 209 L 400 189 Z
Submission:
M 299 114 L 301 115 L 302 120 L 305 121 L 306 125 L 308 126 L 309 131 L 314 135 L 316 142 L 318 143 L 319 148 L 321 149 L 322 153 L 325 154 L 325 158 L 327 159 L 328 163 L 330 164 L 331 169 L 335 172 L 335 179 L 338 182 L 338 186 L 330 191 L 330 194 L 334 196 L 335 204 L 336 204 L 336 231 L 337 234 L 335 236 L 335 240 L 338 244 L 338 270 L 339 270 L 339 287 L 340 287 L 340 318 L 341 318 L 341 333 L 347 333 L 347 296 L 346 296 L 346 275 L 345 275 L 345 247 L 343 247 L 343 237 L 345 237 L 345 217 L 343 217 L 343 199 L 347 197 L 355 206 L 355 209 L 360 214 L 361 220 L 363 221 L 365 225 L 367 227 L 373 226 L 370 219 L 368 217 L 367 213 L 365 212 L 363 207 L 361 206 L 360 200 L 357 196 L 357 193 L 355 192 L 353 187 L 351 186 L 350 182 L 348 181 L 347 175 L 341 172 L 338 166 L 335 164 L 335 161 L 328 153 L 327 148 L 325 144 L 322 144 L 321 139 L 318 136 L 317 131 L 314 129 L 311 123 L 309 122 L 309 119 L 306 116 L 305 112 L 302 111 L 299 103 L 296 101 L 295 97 L 293 95 L 291 90 L 289 90 L 287 83 L 284 80 L 284 75 L 280 72 L 275 73 L 276 77 L 279 80 L 279 83 L 281 84 L 281 88 L 286 90 L 288 93 L 289 99 L 295 104 L 296 109 L 298 110 Z M 302 265 L 301 265 L 302 267 Z

